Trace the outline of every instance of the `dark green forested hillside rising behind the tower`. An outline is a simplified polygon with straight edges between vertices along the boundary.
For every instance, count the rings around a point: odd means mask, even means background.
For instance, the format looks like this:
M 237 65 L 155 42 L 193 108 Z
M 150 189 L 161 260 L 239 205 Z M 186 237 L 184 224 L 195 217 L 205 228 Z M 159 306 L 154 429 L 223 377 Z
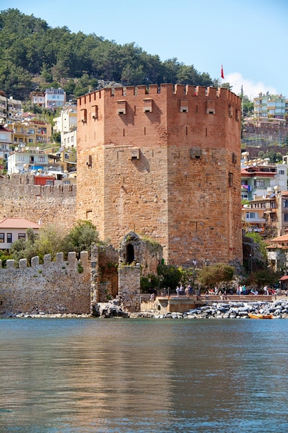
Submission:
M 95 28 L 97 33 L 97 28 Z M 71 33 L 18 9 L 0 12 L 0 91 L 26 100 L 30 91 L 62 86 L 69 97 L 97 89 L 98 80 L 126 85 L 217 85 L 193 65 L 162 62 L 135 42 L 119 45 L 95 33 Z

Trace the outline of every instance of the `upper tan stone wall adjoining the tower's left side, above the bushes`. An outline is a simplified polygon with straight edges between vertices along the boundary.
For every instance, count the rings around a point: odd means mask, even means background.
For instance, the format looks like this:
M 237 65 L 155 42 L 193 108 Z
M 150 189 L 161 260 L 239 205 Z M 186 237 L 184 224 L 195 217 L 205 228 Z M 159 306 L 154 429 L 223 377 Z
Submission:
M 34 185 L 34 176 L 0 177 L 0 219 L 19 217 L 70 230 L 76 222 L 76 185 Z

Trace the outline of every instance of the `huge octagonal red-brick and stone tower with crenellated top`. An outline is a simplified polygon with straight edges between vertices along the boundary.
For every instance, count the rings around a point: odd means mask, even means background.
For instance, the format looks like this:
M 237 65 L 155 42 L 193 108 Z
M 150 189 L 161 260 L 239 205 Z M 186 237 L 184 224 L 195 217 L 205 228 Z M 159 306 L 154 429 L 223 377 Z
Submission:
M 240 99 L 162 84 L 78 99 L 77 219 L 114 246 L 129 231 L 168 264 L 242 263 Z

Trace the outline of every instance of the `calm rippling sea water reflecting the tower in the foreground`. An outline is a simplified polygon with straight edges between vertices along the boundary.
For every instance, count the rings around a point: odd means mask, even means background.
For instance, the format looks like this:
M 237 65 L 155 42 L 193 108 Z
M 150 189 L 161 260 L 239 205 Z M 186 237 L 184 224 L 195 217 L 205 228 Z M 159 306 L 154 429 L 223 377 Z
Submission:
M 288 432 L 288 321 L 0 320 L 0 432 Z

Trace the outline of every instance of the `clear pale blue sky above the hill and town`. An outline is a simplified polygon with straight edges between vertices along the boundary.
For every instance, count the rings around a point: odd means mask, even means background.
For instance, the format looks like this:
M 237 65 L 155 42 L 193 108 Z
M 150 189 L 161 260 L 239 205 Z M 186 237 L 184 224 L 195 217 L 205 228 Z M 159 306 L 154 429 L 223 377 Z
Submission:
M 50 27 L 135 42 L 162 61 L 177 57 L 249 98 L 288 98 L 288 0 L 0 0 Z

